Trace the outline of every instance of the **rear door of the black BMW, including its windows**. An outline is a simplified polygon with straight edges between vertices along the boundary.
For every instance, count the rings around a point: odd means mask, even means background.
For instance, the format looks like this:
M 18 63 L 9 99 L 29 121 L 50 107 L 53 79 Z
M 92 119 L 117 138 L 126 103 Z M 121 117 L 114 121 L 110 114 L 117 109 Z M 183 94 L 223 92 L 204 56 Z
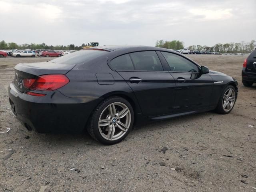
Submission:
M 164 71 L 155 51 L 133 52 L 110 62 L 132 88 L 144 116 L 159 116 L 173 112 L 174 78 Z

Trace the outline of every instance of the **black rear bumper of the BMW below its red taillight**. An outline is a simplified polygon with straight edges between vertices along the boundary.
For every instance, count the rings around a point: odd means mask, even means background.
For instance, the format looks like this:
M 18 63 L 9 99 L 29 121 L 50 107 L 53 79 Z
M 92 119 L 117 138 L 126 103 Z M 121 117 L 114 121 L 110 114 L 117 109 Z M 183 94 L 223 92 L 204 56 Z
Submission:
M 45 92 L 44 92 L 45 93 Z M 11 109 L 26 128 L 40 133 L 80 133 L 100 99 L 69 98 L 58 90 L 31 96 L 8 88 Z

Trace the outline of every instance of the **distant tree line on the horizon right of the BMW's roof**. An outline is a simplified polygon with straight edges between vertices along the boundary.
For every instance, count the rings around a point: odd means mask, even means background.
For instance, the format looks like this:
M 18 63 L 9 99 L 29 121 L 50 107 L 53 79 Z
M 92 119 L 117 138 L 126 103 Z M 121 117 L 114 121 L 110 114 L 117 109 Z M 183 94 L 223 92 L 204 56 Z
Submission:
M 180 50 L 184 48 L 184 43 L 179 40 L 172 41 L 164 41 L 157 40 L 156 47 L 162 47 L 167 49 Z M 198 51 L 210 51 L 210 52 L 220 52 L 220 53 L 250 53 L 256 47 L 256 41 L 251 40 L 250 42 L 240 42 L 240 43 L 225 43 L 225 44 L 215 44 L 214 46 L 206 46 L 206 45 L 190 45 L 188 49 L 190 50 L 198 50 Z

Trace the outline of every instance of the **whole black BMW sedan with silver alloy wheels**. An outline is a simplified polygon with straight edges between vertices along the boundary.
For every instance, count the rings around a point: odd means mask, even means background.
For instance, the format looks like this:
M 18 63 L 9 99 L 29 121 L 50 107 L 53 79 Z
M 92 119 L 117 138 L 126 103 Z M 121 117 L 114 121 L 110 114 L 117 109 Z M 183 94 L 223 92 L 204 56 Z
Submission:
M 209 110 L 227 114 L 238 92 L 234 78 L 150 46 L 85 48 L 14 69 L 9 101 L 28 130 L 87 129 L 104 144 L 120 142 L 139 122 Z

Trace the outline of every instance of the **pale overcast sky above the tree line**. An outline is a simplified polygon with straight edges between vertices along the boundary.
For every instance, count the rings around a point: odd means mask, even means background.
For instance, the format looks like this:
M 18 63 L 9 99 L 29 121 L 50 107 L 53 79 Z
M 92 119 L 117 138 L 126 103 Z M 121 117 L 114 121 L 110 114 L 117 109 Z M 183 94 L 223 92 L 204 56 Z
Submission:
M 48 45 L 256 40 L 256 0 L 0 0 L 0 41 Z

